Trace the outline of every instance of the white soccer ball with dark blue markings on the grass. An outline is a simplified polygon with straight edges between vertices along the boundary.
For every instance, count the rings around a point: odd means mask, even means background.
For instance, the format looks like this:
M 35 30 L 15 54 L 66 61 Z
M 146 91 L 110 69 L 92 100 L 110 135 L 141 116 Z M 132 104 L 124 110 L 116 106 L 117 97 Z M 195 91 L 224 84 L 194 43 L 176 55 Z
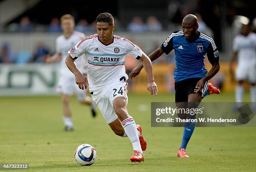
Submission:
M 89 144 L 82 144 L 75 150 L 75 160 L 79 165 L 92 165 L 97 158 L 95 148 Z

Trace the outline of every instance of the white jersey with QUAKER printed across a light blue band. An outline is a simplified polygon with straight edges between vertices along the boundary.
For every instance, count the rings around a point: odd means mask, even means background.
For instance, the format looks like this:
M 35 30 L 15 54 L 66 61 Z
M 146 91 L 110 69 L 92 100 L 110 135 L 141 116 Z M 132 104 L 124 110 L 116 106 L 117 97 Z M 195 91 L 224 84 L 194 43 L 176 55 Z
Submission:
M 142 51 L 131 41 L 116 35 L 111 44 L 104 45 L 95 34 L 78 42 L 69 54 L 74 59 L 86 55 L 89 90 L 97 94 L 104 87 L 120 82 L 123 76 L 127 80 L 124 66 L 126 55 L 139 59 Z

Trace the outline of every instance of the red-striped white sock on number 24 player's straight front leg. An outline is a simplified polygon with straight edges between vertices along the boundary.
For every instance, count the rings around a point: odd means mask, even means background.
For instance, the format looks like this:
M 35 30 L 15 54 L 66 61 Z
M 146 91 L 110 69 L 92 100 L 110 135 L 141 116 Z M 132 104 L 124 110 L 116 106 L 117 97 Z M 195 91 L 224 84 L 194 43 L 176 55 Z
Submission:
M 133 145 L 133 150 L 138 150 L 142 153 L 141 150 L 141 143 L 138 139 L 138 130 L 136 128 L 136 124 L 133 120 L 133 117 L 128 117 L 125 120 L 122 121 L 123 128 L 125 130 L 125 133 L 128 135 L 129 139 L 131 140 L 131 143 Z

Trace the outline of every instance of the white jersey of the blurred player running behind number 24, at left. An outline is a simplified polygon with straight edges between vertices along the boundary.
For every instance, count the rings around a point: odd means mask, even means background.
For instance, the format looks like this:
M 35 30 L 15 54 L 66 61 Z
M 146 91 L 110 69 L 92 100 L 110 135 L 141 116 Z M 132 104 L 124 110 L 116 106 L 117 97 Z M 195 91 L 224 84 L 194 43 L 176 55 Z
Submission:
M 67 68 L 66 65 L 66 58 L 69 55 L 68 51 L 80 40 L 82 40 L 85 37 L 85 35 L 81 32 L 74 31 L 72 35 L 70 35 L 69 38 L 65 38 L 64 35 L 59 36 L 56 39 L 56 53 L 61 54 L 61 69 L 60 74 L 63 77 L 74 77 L 74 74 L 70 72 L 70 70 Z M 78 60 L 75 60 L 75 63 L 77 65 L 78 70 L 81 73 L 86 72 L 85 71 L 85 59 L 84 57 L 79 58 Z

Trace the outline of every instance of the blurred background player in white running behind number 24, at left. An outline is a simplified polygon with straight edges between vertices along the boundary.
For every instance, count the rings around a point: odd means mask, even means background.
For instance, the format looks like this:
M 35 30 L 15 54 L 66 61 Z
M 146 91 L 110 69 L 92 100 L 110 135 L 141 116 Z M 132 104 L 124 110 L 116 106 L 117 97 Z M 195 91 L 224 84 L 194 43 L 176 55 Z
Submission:
M 87 90 L 80 90 L 77 88 L 75 83 L 75 77 L 72 72 L 69 71 L 65 63 L 68 51 L 72 48 L 79 40 L 83 39 L 85 35 L 81 32 L 74 31 L 74 17 L 72 15 L 66 14 L 61 17 L 61 27 L 63 30 L 63 35 L 56 39 L 56 53 L 52 57 L 46 59 L 47 63 L 53 63 L 61 61 L 60 77 L 57 91 L 61 92 L 62 104 L 64 111 L 64 125 L 66 131 L 73 130 L 73 122 L 71 118 L 71 109 L 69 106 L 70 96 L 74 94 L 77 95 L 79 102 L 85 105 L 91 105 L 92 115 L 95 117 L 96 111 L 94 107 L 94 102 L 91 101 L 90 97 L 87 97 Z M 76 65 L 79 71 L 86 75 L 85 69 L 85 57 L 76 60 Z

